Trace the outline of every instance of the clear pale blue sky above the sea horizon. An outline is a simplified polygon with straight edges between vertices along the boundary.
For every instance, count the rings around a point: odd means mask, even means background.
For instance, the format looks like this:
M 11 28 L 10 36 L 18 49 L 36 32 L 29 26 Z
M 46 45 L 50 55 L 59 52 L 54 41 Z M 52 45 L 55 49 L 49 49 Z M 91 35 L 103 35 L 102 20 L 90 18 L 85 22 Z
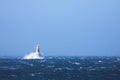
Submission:
M 120 0 L 0 0 L 0 56 L 120 56 Z

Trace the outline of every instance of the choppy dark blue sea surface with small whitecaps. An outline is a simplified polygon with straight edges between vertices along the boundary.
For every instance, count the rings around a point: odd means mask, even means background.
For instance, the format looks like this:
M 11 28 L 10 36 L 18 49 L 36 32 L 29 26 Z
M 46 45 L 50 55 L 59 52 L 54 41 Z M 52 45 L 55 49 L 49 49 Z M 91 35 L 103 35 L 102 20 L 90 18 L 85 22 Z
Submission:
M 1 58 L 0 80 L 120 80 L 120 57 Z

